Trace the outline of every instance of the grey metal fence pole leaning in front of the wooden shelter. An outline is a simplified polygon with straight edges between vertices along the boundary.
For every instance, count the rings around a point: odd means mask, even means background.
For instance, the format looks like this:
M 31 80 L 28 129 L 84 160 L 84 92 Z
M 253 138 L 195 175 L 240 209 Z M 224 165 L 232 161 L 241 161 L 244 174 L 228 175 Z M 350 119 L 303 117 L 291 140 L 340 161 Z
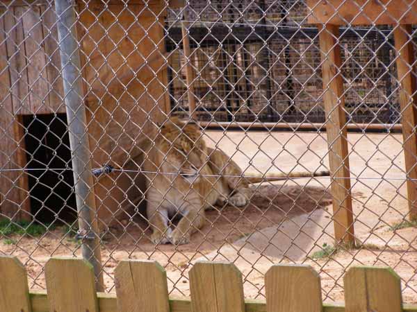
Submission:
M 79 215 L 81 247 L 83 258 L 92 263 L 95 270 L 97 291 L 103 291 L 101 252 L 97 218 L 95 218 L 95 196 L 92 189 L 90 147 L 86 127 L 83 89 L 81 85 L 81 62 L 76 35 L 74 1 L 55 0 L 58 19 L 60 61 L 65 92 L 72 170 L 76 193 L 76 207 Z

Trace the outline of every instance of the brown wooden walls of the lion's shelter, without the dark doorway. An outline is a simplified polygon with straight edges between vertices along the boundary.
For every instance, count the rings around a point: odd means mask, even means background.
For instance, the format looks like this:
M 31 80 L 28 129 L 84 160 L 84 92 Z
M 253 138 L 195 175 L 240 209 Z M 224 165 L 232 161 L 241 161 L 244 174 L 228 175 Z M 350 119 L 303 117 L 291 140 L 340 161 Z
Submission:
M 144 133 L 152 133 L 152 122 L 169 109 L 164 87 L 165 1 L 149 1 L 147 7 L 142 1 L 131 2 L 127 8 L 122 1 L 111 1 L 106 7 L 101 1 L 90 1 L 87 6 L 80 1 L 78 6 L 93 168 L 105 163 L 131 167 L 132 158 L 140 159 Z M 21 115 L 65 112 L 56 15 L 53 7 L 36 3 L 1 12 L 0 53 L 7 55 L 7 59 L 0 58 L 0 92 L 4 95 L 0 136 L 6 140 L 0 153 L 1 168 L 26 164 Z M 140 194 L 139 188 L 131 188 L 133 180 L 143 185 L 137 175 L 120 173 L 97 180 L 97 209 L 104 223 L 126 201 L 127 190 L 129 196 Z M 6 194 L 1 198 L 1 214 L 13 216 L 19 205 L 30 209 L 27 178 L 22 172 L 3 173 L 0 193 Z

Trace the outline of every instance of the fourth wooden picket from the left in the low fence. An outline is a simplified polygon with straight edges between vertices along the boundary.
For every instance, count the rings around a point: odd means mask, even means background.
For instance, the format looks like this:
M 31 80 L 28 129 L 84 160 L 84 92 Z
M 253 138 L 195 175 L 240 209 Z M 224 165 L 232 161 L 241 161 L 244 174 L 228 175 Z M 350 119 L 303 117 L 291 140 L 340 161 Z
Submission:
M 242 274 L 234 264 L 199 261 L 189 275 L 192 311 L 245 312 Z

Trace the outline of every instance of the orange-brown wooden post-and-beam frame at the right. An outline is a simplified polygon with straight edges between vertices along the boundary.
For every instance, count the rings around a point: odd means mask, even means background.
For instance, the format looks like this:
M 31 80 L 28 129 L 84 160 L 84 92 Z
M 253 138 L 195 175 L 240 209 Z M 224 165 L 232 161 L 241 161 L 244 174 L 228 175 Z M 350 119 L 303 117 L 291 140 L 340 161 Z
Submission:
M 382 1 L 381 3 L 367 3 L 366 1 L 307 1 L 311 8 L 309 22 L 322 27 L 320 33 L 320 51 L 322 53 L 323 89 L 327 89 L 324 96 L 325 110 L 329 120 L 328 141 L 331 150 L 329 164 L 335 177 L 332 192 L 334 194 L 334 214 L 339 215 L 335 225 L 336 236 L 354 243 L 352 218 L 352 200 L 350 195 L 350 172 L 347 150 L 347 130 L 344 112 L 343 78 L 341 76 L 341 50 L 337 37 L 339 26 L 350 25 L 394 25 L 395 51 L 398 55 L 397 79 L 400 85 L 400 107 L 402 121 L 402 135 L 405 157 L 405 173 L 407 177 L 407 196 L 409 199 L 409 218 L 417 217 L 417 137 L 415 105 L 416 78 L 414 67 L 414 47 L 412 42 L 412 25 L 417 18 L 414 14 L 415 4 L 402 1 Z M 335 9 L 337 8 L 337 9 Z M 338 232 L 338 233 L 337 233 Z M 349 237 L 350 236 L 350 237 Z

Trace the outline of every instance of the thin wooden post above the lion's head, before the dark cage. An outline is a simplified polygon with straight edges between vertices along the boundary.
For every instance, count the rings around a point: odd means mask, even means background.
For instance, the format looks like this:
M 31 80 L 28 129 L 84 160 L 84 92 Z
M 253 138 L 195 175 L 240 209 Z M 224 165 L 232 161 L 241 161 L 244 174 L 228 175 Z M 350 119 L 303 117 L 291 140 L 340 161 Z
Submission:
M 185 13 L 184 13 L 185 14 Z M 186 19 L 186 15 L 184 15 Z M 195 79 L 193 65 L 190 60 L 190 34 L 188 33 L 188 21 L 181 21 L 181 31 L 183 37 L 183 53 L 185 57 L 185 67 L 186 67 L 186 83 L 187 83 L 187 95 L 188 95 L 188 113 L 190 118 L 197 121 L 197 112 L 195 110 L 195 96 L 194 96 L 194 86 L 193 81 Z

